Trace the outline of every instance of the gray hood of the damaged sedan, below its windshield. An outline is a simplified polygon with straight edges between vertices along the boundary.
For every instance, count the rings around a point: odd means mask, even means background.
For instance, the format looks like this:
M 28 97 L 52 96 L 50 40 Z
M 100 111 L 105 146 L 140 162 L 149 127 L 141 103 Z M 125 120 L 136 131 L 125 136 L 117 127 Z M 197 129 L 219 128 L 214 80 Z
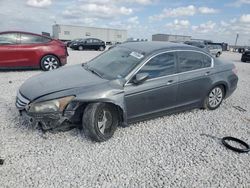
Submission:
M 23 83 L 19 91 L 24 97 L 32 101 L 55 92 L 104 82 L 107 82 L 107 80 L 85 70 L 82 65 L 74 65 L 31 77 Z

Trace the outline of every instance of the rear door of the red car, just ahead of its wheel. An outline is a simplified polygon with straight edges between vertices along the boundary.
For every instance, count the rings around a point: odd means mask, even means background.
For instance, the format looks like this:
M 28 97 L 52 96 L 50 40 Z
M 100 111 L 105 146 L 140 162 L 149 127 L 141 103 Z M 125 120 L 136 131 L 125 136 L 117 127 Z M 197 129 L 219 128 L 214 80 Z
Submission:
M 41 36 L 20 34 L 20 44 L 17 47 L 16 56 L 23 67 L 37 67 L 39 65 L 39 51 L 42 41 Z

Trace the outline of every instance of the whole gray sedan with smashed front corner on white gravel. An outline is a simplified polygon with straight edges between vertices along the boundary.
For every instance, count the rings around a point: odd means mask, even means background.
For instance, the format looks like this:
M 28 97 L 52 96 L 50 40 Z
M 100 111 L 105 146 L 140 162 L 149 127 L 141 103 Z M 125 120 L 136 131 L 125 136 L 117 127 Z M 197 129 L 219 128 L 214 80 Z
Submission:
M 237 82 L 233 64 L 202 49 L 167 42 L 124 43 L 82 65 L 28 79 L 16 106 L 44 130 L 81 125 L 87 136 L 101 142 L 118 125 L 191 108 L 214 110 Z

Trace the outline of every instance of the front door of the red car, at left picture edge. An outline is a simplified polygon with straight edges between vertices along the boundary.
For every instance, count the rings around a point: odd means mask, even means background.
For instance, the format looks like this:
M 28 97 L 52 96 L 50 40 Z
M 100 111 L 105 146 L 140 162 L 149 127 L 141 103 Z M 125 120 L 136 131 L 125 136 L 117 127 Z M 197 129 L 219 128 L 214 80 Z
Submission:
M 16 67 L 18 35 L 17 33 L 0 34 L 0 67 Z

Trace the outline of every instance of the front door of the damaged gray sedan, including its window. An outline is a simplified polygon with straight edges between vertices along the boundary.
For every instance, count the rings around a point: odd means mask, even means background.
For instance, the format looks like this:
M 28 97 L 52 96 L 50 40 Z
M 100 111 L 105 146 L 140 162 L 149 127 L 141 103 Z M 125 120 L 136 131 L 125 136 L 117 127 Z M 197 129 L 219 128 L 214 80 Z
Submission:
M 125 85 L 125 103 L 129 121 L 157 113 L 176 105 L 178 75 L 174 52 L 152 57 L 135 75 L 148 74 L 141 84 L 133 84 L 134 77 Z

